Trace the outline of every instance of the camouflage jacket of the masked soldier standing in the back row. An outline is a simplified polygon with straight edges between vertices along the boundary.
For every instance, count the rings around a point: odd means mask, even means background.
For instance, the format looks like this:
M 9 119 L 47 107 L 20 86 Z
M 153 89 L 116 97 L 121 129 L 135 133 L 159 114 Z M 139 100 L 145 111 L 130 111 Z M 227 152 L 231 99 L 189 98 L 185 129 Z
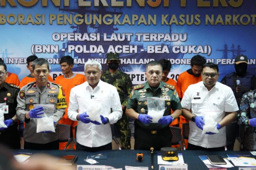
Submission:
M 102 73 L 100 80 L 115 86 L 119 94 L 121 104 L 124 106 L 127 105 L 129 99 L 128 96 L 130 96 L 133 89 L 132 81 L 128 74 L 119 70 L 117 70 L 115 74 L 112 74 L 107 70 Z

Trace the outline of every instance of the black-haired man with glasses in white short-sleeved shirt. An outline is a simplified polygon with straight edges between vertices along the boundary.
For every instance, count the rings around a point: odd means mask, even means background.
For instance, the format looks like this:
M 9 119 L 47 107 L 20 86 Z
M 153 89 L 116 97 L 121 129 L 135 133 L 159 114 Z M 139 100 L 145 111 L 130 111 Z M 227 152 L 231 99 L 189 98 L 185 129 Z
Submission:
M 237 117 L 238 106 L 230 87 L 221 84 L 218 65 L 206 63 L 202 80 L 188 86 L 181 101 L 182 116 L 190 120 L 188 150 L 223 151 L 226 145 L 226 125 Z M 214 131 L 202 134 L 205 118 L 216 121 Z M 206 127 L 206 126 L 205 126 Z

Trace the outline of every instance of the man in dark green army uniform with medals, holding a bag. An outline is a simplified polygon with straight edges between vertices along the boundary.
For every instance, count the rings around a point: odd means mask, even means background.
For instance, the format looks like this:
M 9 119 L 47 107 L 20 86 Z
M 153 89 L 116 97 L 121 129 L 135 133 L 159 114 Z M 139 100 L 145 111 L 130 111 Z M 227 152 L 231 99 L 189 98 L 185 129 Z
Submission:
M 134 86 L 126 109 L 126 115 L 135 119 L 134 149 L 149 150 L 154 147 L 155 150 L 160 150 L 162 147 L 171 147 L 172 133 L 169 124 L 181 115 L 179 96 L 172 85 L 161 81 L 162 66 L 159 62 L 150 61 L 146 66 L 145 75 L 148 81 Z M 164 99 L 165 111 L 158 123 L 151 123 L 147 97 Z

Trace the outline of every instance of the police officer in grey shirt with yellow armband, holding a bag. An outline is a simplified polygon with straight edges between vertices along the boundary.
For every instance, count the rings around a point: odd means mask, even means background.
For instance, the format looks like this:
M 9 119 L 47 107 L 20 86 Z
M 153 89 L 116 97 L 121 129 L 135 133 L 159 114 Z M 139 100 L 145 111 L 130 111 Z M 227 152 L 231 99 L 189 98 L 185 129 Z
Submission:
M 47 60 L 38 58 L 33 63 L 35 82 L 28 83 L 20 89 L 17 97 L 17 117 L 25 122 L 24 149 L 59 149 L 59 132 L 45 131 L 36 133 L 37 119 L 41 118 L 43 108 L 34 104 L 54 104 L 53 121 L 55 126 L 67 107 L 65 93 L 60 85 L 47 81 L 49 76 Z

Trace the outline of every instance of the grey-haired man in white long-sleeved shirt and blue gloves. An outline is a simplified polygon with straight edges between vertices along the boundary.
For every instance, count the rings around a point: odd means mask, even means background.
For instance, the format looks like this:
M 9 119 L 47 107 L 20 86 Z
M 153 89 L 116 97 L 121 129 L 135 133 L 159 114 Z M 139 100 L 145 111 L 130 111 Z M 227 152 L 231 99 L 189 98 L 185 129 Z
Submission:
M 100 80 L 102 70 L 99 62 L 87 61 L 84 73 L 87 81 L 72 88 L 69 97 L 68 117 L 78 121 L 76 150 L 111 150 L 110 124 L 116 123 L 123 113 L 119 95 L 114 86 Z M 101 122 L 90 120 L 86 114 L 92 103 L 97 103 L 101 109 Z

